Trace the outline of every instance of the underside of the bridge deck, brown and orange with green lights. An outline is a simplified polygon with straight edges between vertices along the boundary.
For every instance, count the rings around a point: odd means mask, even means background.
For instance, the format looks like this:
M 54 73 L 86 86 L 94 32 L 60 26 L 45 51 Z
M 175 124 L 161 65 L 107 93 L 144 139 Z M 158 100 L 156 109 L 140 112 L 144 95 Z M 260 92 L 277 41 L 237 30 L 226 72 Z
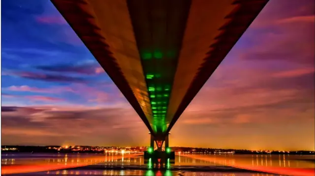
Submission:
M 164 140 L 268 0 L 52 0 Z

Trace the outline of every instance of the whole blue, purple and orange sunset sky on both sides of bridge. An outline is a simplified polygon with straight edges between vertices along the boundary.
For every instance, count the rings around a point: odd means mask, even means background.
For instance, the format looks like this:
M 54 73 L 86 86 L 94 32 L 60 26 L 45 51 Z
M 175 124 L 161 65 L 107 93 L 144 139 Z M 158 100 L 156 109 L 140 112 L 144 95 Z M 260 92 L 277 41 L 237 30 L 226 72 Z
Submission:
M 148 129 L 49 0 L 2 0 L 2 145 L 149 145 Z M 314 0 L 270 0 L 170 146 L 314 150 Z

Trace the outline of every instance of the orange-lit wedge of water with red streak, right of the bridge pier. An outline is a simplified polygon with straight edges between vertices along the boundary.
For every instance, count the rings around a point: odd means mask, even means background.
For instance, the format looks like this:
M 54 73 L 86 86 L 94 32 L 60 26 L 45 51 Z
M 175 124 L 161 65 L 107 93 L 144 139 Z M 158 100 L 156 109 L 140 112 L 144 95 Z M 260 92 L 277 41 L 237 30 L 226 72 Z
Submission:
M 214 163 L 215 165 L 218 164 L 252 171 L 301 176 L 315 175 L 315 155 L 190 154 L 183 156 L 191 158 L 192 161 L 193 159 L 200 159 Z

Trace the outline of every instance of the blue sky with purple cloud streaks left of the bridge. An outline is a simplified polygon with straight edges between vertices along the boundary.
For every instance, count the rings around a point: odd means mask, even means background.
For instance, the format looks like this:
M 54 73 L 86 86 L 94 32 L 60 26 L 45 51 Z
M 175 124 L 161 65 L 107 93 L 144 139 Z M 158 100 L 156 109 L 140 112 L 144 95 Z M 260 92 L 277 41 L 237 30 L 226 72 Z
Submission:
M 10 86 L 70 89 L 84 84 L 111 91 L 107 86 L 112 84 L 110 78 L 50 1 L 4 0 L 2 9 L 1 87 L 2 94 L 7 95 L 2 96 L 3 104 L 43 103 L 25 97 L 36 95 L 63 99 L 62 103 L 95 105 L 71 91 L 44 95 Z

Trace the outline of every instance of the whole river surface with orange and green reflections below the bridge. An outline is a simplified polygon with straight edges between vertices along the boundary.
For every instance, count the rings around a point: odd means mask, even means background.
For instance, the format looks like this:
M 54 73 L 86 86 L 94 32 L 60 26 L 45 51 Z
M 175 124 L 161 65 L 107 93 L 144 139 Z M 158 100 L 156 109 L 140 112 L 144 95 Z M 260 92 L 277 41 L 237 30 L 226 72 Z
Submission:
M 141 153 L 2 153 L 1 175 L 271 176 L 263 173 L 269 172 L 314 176 L 314 159 L 315 155 L 189 154 L 177 155 L 174 164 L 157 169 L 153 163 L 144 163 Z

